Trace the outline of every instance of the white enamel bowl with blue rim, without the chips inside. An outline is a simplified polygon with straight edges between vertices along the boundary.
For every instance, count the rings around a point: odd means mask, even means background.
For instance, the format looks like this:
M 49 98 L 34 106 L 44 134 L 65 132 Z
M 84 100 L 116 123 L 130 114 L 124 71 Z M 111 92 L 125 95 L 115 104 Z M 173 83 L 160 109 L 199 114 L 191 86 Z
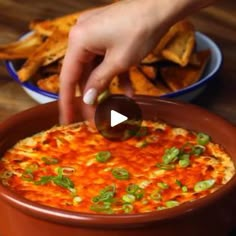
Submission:
M 27 37 L 29 34 L 31 33 L 28 33 L 23 37 Z M 206 88 L 207 83 L 213 78 L 215 78 L 215 75 L 220 69 L 222 64 L 222 53 L 217 44 L 203 33 L 196 32 L 195 35 L 196 35 L 196 50 L 199 51 L 199 50 L 209 49 L 211 51 L 210 60 L 204 71 L 204 74 L 202 75 L 202 78 L 198 80 L 196 83 L 184 89 L 165 94 L 164 96 L 162 96 L 162 98 L 173 98 L 182 101 L 191 101 Z M 30 81 L 21 83 L 17 76 L 16 69 L 12 61 L 6 61 L 6 67 L 11 77 L 17 83 L 19 83 L 23 87 L 25 92 L 36 102 L 42 104 L 55 101 L 58 99 L 57 94 L 42 90 Z

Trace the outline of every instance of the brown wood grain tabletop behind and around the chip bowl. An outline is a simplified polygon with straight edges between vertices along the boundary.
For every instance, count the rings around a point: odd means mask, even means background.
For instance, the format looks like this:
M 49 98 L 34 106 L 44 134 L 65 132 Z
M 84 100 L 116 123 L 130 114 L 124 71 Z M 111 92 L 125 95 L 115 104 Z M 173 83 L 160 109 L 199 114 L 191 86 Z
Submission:
M 34 19 L 46 19 L 107 4 L 109 0 L 0 0 L 0 44 L 16 40 Z M 190 19 L 221 48 L 224 63 L 217 78 L 195 100 L 236 124 L 236 1 L 219 1 Z M 0 63 L 0 121 L 37 105 Z

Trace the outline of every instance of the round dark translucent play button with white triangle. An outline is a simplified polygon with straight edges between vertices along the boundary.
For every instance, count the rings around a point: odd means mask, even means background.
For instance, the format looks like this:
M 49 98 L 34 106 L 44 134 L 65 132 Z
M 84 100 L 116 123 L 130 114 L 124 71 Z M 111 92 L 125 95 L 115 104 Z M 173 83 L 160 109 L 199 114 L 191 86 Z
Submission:
M 97 106 L 97 130 L 109 140 L 123 141 L 131 138 L 138 133 L 141 123 L 140 107 L 124 95 L 112 95 Z

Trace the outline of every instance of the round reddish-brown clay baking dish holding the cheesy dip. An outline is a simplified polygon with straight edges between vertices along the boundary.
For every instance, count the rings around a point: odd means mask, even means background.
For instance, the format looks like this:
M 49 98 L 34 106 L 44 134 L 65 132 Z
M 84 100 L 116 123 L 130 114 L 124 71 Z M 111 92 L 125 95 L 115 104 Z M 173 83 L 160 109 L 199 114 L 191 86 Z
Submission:
M 190 104 L 136 97 L 144 119 L 208 133 L 236 163 L 236 129 L 208 111 Z M 78 100 L 78 119 L 81 100 Z M 52 102 L 21 112 L 0 124 L 0 156 L 19 139 L 58 123 Z M 133 215 L 80 214 L 42 206 L 0 185 L 1 236 L 185 236 L 227 235 L 236 223 L 236 177 L 215 193 L 175 208 Z M 235 224 L 236 225 L 236 224 Z

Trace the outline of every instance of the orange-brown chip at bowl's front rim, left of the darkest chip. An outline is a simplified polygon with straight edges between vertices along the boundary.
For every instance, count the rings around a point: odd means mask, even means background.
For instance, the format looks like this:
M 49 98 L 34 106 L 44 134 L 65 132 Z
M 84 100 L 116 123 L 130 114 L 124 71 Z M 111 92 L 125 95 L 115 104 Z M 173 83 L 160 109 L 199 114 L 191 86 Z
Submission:
M 161 82 L 152 84 L 137 67 L 132 67 L 129 75 L 134 93 L 137 95 L 161 96 L 170 92 Z

